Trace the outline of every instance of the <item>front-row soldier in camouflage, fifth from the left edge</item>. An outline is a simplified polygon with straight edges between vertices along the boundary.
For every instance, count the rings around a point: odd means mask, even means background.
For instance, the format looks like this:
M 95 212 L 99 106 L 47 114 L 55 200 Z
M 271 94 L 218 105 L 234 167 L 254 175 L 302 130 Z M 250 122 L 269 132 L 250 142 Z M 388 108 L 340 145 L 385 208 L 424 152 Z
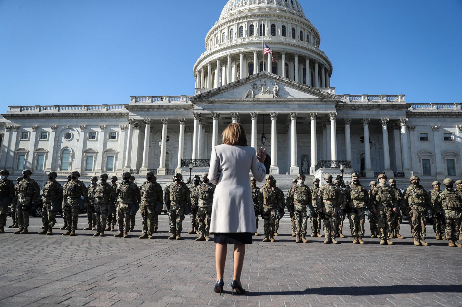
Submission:
M 108 219 L 108 207 L 116 200 L 116 190 L 109 184 L 108 174 L 99 175 L 100 183 L 92 190 L 93 211 L 95 215 L 96 233 L 93 236 L 104 236 L 104 227 Z M 90 194 L 90 189 L 88 191 Z

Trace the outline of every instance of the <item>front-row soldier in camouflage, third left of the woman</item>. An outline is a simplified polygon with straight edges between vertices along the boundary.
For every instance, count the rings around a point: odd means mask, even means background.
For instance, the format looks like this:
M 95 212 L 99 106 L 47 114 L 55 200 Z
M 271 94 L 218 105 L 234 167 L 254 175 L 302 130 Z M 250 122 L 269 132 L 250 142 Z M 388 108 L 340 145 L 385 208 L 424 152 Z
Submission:
M 156 207 L 162 211 L 162 187 L 158 184 L 154 178 L 153 171 L 148 171 L 146 173 L 146 181 L 141 184 L 140 193 L 141 193 L 141 223 L 143 224 L 142 235 L 139 236 L 140 239 L 154 239 L 152 234 L 154 233 L 155 227 L 155 217 L 157 214 Z

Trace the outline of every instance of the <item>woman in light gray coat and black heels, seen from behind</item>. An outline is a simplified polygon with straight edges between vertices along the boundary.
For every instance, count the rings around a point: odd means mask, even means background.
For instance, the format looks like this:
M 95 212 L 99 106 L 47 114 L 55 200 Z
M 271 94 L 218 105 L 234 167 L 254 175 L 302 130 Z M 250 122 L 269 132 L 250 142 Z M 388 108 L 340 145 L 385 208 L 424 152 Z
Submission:
M 223 144 L 212 148 L 208 178 L 217 187 L 213 194 L 210 233 L 217 243 L 215 261 L 217 283 L 214 291 L 221 294 L 224 286 L 227 244 L 234 244 L 234 274 L 232 294 L 245 294 L 241 285 L 245 244 L 252 244 L 256 232 L 254 202 L 249 184 L 249 172 L 257 181 L 266 174 L 263 161 L 266 149 L 247 146 L 244 128 L 237 123 L 229 124 L 222 134 Z

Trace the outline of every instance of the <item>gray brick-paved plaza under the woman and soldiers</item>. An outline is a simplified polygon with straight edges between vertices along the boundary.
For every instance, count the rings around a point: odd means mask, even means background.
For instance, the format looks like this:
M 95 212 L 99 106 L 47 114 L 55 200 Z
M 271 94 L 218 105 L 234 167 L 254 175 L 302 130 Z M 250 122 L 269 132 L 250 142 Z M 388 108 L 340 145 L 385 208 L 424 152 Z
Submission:
M 414 247 L 407 224 L 401 231 L 407 239 L 395 239 L 394 246 L 371 238 L 353 245 L 350 237 L 337 245 L 322 244 L 323 238 L 295 244 L 284 218 L 279 242 L 263 243 L 259 236 L 247 249 L 242 282 L 248 295 L 231 296 L 228 251 L 226 293 L 220 296 L 213 293 L 213 242 L 186 234 L 182 241 L 167 240 L 166 231 L 141 240 L 137 217 L 127 239 L 95 238 L 84 230 L 64 237 L 59 229 L 54 236 L 14 235 L 8 228 L 0 235 L 0 306 L 462 305 L 462 248 L 434 239 L 427 240 L 431 247 Z M 80 229 L 85 220 L 81 215 Z M 30 221 L 29 231 L 40 231 L 41 218 Z M 187 230 L 188 217 L 183 225 Z M 169 229 L 167 216 L 159 217 L 159 226 Z

